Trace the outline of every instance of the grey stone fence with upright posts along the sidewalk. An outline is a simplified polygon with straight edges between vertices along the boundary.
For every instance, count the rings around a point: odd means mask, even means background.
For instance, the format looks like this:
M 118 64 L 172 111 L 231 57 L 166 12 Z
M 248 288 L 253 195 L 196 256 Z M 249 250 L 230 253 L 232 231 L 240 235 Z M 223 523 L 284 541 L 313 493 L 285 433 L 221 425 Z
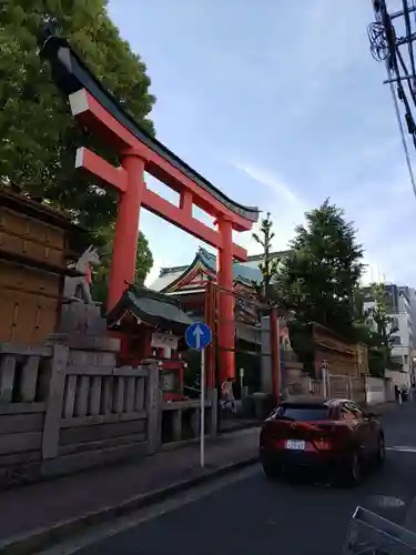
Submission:
M 116 366 L 118 340 L 0 344 L 0 487 L 196 441 L 200 403 L 164 403 L 155 361 Z M 216 433 L 209 391 L 206 434 Z

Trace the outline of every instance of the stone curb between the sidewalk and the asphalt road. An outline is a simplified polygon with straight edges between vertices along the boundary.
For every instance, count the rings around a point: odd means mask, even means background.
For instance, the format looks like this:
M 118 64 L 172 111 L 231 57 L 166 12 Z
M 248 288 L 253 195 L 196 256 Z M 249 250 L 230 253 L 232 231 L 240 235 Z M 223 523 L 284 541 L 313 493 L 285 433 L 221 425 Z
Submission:
M 29 555 L 63 542 L 82 533 L 85 528 L 104 523 L 111 518 L 125 516 L 173 495 L 185 492 L 197 485 L 231 474 L 258 462 L 258 456 L 251 456 L 236 463 L 216 467 L 189 480 L 175 482 L 166 487 L 135 495 L 118 505 L 101 507 L 98 511 L 84 513 L 77 518 L 61 521 L 52 526 L 35 528 L 29 533 L 0 541 L 0 555 Z

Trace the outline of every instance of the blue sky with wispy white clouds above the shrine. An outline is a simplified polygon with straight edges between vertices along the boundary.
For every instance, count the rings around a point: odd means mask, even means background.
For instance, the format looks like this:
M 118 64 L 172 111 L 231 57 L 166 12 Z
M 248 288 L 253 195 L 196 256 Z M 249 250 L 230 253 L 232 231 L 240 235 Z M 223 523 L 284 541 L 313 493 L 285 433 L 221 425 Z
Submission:
M 148 67 L 158 139 L 231 199 L 270 211 L 275 250 L 331 198 L 357 229 L 364 281 L 416 285 L 416 201 L 385 67 L 369 52 L 371 0 L 110 0 L 109 12 Z M 202 244 L 144 210 L 140 229 L 154 256 L 148 284 Z M 235 240 L 260 252 L 251 232 Z

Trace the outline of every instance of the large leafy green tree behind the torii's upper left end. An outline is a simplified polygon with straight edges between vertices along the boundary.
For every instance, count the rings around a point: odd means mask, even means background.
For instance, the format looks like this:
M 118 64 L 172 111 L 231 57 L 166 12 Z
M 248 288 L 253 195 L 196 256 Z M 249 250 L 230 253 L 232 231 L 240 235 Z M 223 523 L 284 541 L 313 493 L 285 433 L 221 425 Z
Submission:
M 79 129 L 68 100 L 39 57 L 41 26 L 57 30 L 95 75 L 150 133 L 154 103 L 140 57 L 110 20 L 104 0 L 8 0 L 0 8 L 0 183 L 69 212 L 89 230 L 115 215 L 116 194 L 74 170 L 77 147 L 89 147 L 112 162 L 97 137 Z

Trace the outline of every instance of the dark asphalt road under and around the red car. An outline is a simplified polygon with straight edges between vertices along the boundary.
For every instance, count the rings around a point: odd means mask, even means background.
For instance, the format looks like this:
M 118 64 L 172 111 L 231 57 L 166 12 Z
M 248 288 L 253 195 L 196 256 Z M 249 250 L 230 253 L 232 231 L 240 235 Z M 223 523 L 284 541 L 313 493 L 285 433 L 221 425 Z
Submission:
M 385 466 L 353 490 L 270 483 L 260 467 L 78 555 L 334 555 L 357 505 L 404 523 L 416 496 L 416 402 L 384 417 Z M 414 523 L 416 528 L 416 522 Z

